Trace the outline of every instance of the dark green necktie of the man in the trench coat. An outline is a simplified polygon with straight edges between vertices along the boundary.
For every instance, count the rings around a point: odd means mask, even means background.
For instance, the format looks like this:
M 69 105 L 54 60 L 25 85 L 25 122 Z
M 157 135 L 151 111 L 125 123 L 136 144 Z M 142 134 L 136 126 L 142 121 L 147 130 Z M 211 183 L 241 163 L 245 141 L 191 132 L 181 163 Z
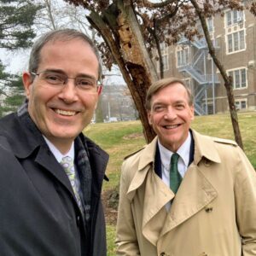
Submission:
M 182 181 L 182 177 L 177 171 L 177 160 L 179 155 L 177 153 L 172 154 L 171 167 L 170 167 L 170 188 L 173 193 L 176 194 L 177 189 Z

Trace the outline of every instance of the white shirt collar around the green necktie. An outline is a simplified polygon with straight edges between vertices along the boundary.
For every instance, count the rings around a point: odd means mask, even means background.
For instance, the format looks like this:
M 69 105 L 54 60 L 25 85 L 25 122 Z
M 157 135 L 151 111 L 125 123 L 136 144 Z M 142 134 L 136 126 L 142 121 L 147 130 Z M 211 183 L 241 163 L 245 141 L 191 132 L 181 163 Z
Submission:
M 183 160 L 183 163 L 186 166 L 186 168 L 188 168 L 189 166 L 189 151 L 190 151 L 191 139 L 192 139 L 191 134 L 189 132 L 189 136 L 186 138 L 185 142 L 177 149 L 177 154 L 179 154 L 180 158 Z M 160 143 L 159 140 L 158 140 L 158 145 L 160 149 L 160 159 L 161 159 L 162 165 L 165 166 L 166 170 L 169 170 L 170 160 L 174 152 L 165 148 Z

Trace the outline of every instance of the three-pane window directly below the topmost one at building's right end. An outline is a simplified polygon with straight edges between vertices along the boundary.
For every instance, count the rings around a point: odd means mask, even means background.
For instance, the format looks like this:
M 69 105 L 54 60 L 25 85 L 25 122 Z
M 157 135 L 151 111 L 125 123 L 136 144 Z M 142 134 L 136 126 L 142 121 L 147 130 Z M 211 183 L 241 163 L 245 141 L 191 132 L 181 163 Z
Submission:
M 241 49 L 245 49 L 245 32 L 233 32 L 227 35 L 228 53 L 232 53 Z

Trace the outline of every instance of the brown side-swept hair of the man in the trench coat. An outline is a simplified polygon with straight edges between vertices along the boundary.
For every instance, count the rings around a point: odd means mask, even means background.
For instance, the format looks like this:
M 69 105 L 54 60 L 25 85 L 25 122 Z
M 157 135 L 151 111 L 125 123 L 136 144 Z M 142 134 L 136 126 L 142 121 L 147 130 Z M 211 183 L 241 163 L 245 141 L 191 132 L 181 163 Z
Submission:
M 184 86 L 184 88 L 187 91 L 188 97 L 189 97 L 188 98 L 189 106 L 192 106 L 194 99 L 193 99 L 191 90 L 189 89 L 188 85 L 182 79 L 177 79 L 175 77 L 171 77 L 171 78 L 167 78 L 167 79 L 160 79 L 150 85 L 150 87 L 148 88 L 148 91 L 147 91 L 147 96 L 146 96 L 146 102 L 145 102 L 146 109 L 147 110 L 151 109 L 151 99 L 158 91 L 160 91 L 161 89 L 163 89 L 169 85 L 176 84 L 176 83 L 182 84 Z

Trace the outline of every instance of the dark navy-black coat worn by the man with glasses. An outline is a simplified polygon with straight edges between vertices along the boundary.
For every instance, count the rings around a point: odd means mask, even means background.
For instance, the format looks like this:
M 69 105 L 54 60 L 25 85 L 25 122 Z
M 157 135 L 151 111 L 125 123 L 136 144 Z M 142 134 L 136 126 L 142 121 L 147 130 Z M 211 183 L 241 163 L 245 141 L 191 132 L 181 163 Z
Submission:
M 79 135 L 92 171 L 85 230 L 66 173 L 27 119 L 12 113 L 0 120 L 0 255 L 105 256 L 101 191 L 108 154 Z

